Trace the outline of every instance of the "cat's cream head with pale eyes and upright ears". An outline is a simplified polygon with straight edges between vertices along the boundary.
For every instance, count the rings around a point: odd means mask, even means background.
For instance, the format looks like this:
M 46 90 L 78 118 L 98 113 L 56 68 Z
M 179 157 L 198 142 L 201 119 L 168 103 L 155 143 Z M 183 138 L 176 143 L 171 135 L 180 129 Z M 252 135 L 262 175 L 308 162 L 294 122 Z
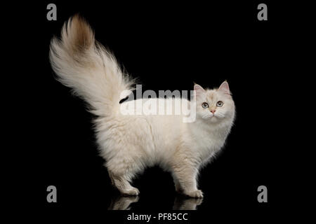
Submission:
M 230 94 L 228 82 L 223 82 L 218 89 L 204 90 L 201 85 L 194 86 L 197 118 L 210 123 L 231 120 L 235 116 L 235 104 Z

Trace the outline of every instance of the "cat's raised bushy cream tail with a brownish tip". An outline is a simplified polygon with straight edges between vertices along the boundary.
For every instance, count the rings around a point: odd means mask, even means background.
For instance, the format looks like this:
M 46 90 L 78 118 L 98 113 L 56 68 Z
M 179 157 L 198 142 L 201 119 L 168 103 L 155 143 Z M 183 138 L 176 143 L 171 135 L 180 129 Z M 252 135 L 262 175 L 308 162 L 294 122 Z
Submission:
M 133 80 L 79 15 L 65 22 L 60 39 L 52 39 L 50 60 L 58 80 L 88 102 L 96 116 L 117 113 L 120 99 L 132 90 Z

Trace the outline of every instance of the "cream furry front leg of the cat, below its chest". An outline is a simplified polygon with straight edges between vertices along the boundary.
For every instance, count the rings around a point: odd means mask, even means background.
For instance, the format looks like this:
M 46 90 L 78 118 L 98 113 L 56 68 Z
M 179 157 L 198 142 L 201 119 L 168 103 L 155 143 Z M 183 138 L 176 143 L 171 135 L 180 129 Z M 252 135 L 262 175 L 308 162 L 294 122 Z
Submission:
M 173 165 L 176 190 L 190 197 L 203 197 L 202 190 L 197 189 L 197 167 L 190 162 L 178 162 Z

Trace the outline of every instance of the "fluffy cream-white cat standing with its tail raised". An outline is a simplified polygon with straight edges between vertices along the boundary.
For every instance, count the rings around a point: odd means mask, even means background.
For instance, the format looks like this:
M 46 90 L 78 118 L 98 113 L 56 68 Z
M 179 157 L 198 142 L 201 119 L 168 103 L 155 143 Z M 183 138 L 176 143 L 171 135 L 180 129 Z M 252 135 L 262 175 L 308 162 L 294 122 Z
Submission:
M 58 80 L 84 99 L 96 116 L 100 155 L 121 194 L 138 195 L 139 190 L 131 186 L 133 178 L 145 167 L 159 165 L 171 173 L 176 191 L 203 197 L 197 189 L 199 169 L 223 148 L 235 120 L 227 81 L 213 90 L 194 85 L 192 123 L 183 123 L 181 115 L 123 115 L 121 105 L 130 102 L 120 104 L 128 95 L 121 93 L 132 91 L 135 80 L 95 40 L 84 18 L 74 15 L 65 22 L 61 38 L 51 40 L 49 57 Z

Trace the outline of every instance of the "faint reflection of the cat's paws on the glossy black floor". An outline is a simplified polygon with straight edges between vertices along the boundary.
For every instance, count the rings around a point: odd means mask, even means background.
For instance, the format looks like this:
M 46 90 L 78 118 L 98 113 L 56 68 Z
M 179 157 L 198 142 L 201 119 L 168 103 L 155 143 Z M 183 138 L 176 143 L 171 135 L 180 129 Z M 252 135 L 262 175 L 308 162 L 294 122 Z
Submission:
M 138 200 L 138 196 L 118 195 L 112 199 L 109 210 L 130 210 L 130 205 L 138 202 Z M 202 204 L 202 202 L 202 198 L 188 198 L 177 195 L 173 203 L 173 210 L 197 210 L 197 206 Z

